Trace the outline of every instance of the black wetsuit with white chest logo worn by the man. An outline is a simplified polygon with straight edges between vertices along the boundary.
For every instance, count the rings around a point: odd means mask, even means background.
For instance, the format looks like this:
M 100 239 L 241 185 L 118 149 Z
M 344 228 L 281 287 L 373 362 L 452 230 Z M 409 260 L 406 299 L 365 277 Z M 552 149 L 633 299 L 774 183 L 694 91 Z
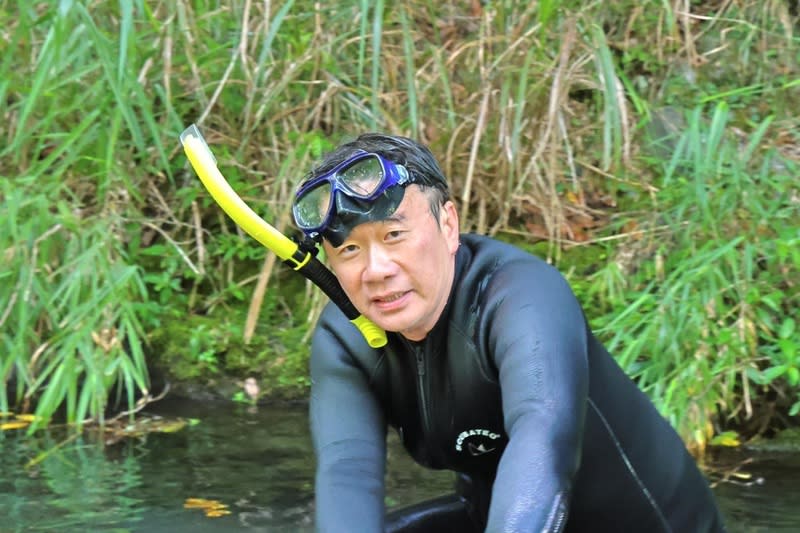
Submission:
M 321 531 L 386 527 L 387 424 L 420 464 L 463 474 L 461 497 L 437 505 L 467 509 L 475 530 L 723 530 L 683 442 L 567 282 L 513 246 L 461 236 L 447 307 L 421 342 L 390 334 L 371 349 L 329 305 L 311 377 Z

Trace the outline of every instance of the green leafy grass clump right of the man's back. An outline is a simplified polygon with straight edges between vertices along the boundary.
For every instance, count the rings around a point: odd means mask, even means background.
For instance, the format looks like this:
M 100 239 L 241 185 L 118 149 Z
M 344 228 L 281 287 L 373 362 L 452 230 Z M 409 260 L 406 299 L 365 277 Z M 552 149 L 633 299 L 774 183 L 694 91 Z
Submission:
M 800 254 L 787 252 L 798 242 L 798 167 L 774 149 L 756 157 L 771 117 L 744 138 L 729 119 L 724 104 L 708 119 L 699 108 L 688 114 L 672 158 L 657 163 L 651 224 L 665 230 L 645 237 L 621 280 L 619 261 L 590 280 L 605 293 L 599 300 L 626 302 L 595 320 L 609 348 L 701 449 L 725 422 L 753 419 L 754 398 L 777 396 L 790 415 L 800 409 Z

